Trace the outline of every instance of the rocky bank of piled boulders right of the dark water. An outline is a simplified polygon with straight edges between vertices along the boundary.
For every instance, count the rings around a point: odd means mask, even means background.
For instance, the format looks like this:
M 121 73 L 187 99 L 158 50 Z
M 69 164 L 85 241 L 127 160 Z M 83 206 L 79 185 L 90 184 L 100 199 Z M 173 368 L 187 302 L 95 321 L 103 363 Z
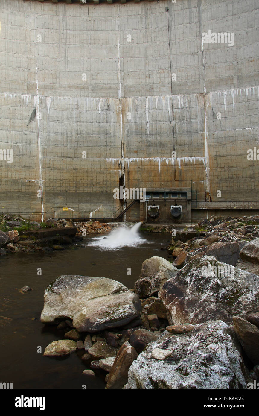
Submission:
M 200 223 L 197 236 L 167 247 L 172 262 L 145 260 L 130 290 L 105 277 L 57 277 L 45 290 L 41 321 L 57 325 L 61 337 L 44 356 L 81 349 L 83 374 L 103 369 L 106 389 L 252 388 L 259 382 L 258 223 Z

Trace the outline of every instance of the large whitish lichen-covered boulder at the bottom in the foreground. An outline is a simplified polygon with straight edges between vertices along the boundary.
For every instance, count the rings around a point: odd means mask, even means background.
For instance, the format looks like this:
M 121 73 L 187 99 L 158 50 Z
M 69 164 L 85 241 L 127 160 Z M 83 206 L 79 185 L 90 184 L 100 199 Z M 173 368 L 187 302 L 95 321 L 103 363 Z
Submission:
M 246 389 L 244 374 L 233 330 L 210 321 L 185 334 L 163 332 L 133 361 L 124 389 Z

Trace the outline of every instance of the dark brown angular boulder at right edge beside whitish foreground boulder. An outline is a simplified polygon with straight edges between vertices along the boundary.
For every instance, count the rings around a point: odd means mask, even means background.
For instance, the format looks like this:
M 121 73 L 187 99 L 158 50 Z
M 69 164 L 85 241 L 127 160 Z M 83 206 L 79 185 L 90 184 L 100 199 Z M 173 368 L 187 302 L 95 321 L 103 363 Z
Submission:
M 233 316 L 234 330 L 247 357 L 259 364 L 259 329 L 239 316 Z

